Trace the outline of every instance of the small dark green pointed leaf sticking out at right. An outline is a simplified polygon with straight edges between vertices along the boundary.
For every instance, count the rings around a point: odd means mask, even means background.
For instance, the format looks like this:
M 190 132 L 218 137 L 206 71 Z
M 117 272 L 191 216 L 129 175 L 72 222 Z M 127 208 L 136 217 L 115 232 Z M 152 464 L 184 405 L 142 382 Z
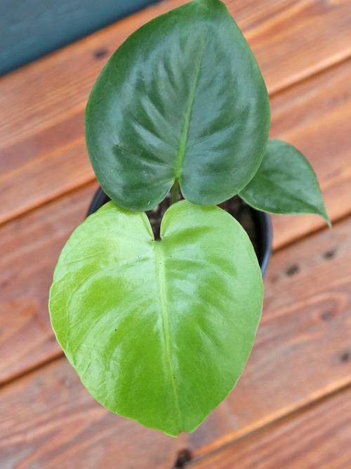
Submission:
M 284 141 L 268 141 L 258 172 L 239 195 L 259 210 L 314 213 L 331 226 L 312 166 L 302 153 Z

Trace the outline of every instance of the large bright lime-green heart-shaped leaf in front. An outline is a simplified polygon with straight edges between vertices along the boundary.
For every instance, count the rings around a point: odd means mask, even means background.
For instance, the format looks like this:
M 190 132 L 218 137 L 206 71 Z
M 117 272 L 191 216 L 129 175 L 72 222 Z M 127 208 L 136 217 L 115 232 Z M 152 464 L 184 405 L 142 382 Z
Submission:
M 58 341 L 93 397 L 173 436 L 234 387 L 262 302 L 244 229 L 185 200 L 158 241 L 144 213 L 107 203 L 69 238 L 50 293 Z

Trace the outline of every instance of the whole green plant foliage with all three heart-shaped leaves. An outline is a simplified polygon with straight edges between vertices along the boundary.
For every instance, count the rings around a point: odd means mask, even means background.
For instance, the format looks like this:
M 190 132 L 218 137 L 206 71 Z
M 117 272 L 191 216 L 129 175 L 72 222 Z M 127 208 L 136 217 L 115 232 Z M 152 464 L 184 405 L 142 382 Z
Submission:
M 312 167 L 268 141 L 269 129 L 260 70 L 218 0 L 147 23 L 102 70 L 86 143 L 113 202 L 67 241 L 49 306 L 67 359 L 107 409 L 176 436 L 237 383 L 263 282 L 248 236 L 218 203 L 239 193 L 260 210 L 330 223 Z M 155 240 L 143 211 L 168 191 Z

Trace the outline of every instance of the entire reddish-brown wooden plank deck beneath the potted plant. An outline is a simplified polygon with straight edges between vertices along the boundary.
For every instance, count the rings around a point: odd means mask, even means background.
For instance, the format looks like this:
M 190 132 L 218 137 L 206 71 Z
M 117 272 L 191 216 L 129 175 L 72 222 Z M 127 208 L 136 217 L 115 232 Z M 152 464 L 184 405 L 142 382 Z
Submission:
M 97 187 L 84 108 L 165 0 L 0 79 L 0 468 L 351 468 L 351 1 L 226 0 L 333 222 L 272 217 L 263 319 L 237 387 L 173 439 L 110 413 L 55 341 L 48 288 Z M 184 451 L 187 450 L 187 451 Z

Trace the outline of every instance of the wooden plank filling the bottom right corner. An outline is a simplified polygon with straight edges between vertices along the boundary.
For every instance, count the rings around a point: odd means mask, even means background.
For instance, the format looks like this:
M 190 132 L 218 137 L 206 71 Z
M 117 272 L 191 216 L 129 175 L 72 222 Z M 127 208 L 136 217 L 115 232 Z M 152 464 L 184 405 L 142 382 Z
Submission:
M 351 467 L 351 390 L 191 464 L 194 469 Z

